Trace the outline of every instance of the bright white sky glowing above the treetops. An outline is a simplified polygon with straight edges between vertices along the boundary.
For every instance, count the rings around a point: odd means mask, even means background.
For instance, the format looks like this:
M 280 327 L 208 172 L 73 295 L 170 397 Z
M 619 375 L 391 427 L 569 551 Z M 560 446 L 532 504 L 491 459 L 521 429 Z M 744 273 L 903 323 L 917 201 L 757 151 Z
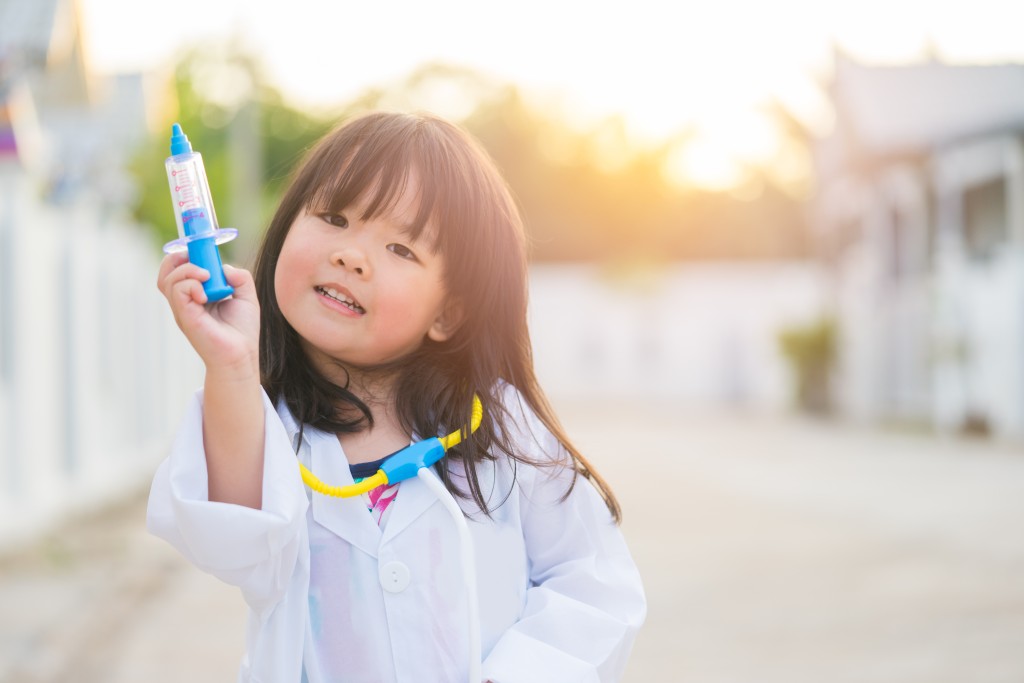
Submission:
M 689 127 L 711 184 L 730 159 L 777 153 L 762 111 L 816 132 L 838 47 L 869 62 L 934 55 L 1024 62 L 1022 0 L 78 0 L 100 73 L 159 69 L 234 39 L 298 105 L 330 106 L 431 61 L 516 83 L 588 125 L 621 116 L 638 142 Z M 159 10 L 159 11 L 158 11 Z M 699 158 L 699 155 L 705 158 Z

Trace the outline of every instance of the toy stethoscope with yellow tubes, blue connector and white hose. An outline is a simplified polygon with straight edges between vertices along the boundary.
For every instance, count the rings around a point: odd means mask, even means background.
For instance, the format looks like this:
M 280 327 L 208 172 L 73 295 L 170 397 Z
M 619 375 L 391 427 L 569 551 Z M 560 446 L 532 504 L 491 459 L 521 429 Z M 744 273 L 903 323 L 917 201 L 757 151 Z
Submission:
M 483 420 L 483 405 L 479 396 L 473 396 L 473 414 L 470 418 L 469 433 L 472 434 Z M 301 430 L 301 427 L 300 427 Z M 299 441 L 301 442 L 301 431 Z M 444 457 L 444 453 L 462 442 L 464 429 L 459 429 L 447 436 L 433 436 L 417 441 L 401 451 L 389 456 L 377 473 L 361 479 L 354 484 L 332 486 L 324 483 L 299 463 L 302 481 L 310 489 L 324 496 L 334 498 L 353 498 L 388 483 L 397 483 L 414 476 L 429 487 L 437 497 L 455 520 L 459 530 L 460 557 L 466 585 L 466 606 L 469 612 L 469 680 L 477 683 L 480 680 L 480 609 L 476 594 L 476 562 L 473 557 L 473 540 L 469 535 L 469 524 L 466 516 L 455 498 L 447 492 L 440 479 L 430 473 L 430 466 Z M 298 447 L 298 445 L 296 445 Z

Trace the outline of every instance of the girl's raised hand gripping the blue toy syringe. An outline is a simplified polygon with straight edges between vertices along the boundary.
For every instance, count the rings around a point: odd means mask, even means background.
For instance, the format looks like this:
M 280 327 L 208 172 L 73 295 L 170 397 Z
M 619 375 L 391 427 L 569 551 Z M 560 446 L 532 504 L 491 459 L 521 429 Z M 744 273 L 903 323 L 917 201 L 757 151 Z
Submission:
M 169 254 L 160 264 L 157 285 L 171 306 L 174 322 L 206 364 L 207 372 L 238 379 L 259 377 L 259 301 L 248 270 L 224 266 L 234 294 L 207 304 L 205 269 L 184 252 Z

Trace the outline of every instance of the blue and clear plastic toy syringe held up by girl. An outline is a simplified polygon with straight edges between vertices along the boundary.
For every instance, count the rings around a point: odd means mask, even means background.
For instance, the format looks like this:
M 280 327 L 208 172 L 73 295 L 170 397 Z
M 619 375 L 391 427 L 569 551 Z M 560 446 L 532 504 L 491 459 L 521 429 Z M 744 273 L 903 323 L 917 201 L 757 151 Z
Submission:
M 164 245 L 164 252 L 171 254 L 187 249 L 188 260 L 210 272 L 210 279 L 203 283 L 207 301 L 220 301 L 234 290 L 224 279 L 217 245 L 230 242 L 239 231 L 217 226 L 203 156 L 193 152 L 188 137 L 178 124 L 171 127 L 171 156 L 164 166 L 174 202 L 174 218 L 178 222 L 178 239 Z

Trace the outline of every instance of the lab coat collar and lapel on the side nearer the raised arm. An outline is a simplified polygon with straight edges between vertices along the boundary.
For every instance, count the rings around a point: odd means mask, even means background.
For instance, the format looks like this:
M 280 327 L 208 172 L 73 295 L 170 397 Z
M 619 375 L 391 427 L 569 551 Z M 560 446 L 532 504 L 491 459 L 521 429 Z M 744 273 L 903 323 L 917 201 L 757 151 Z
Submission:
M 353 483 L 348 460 L 334 434 L 319 430 L 310 436 L 310 469 L 325 483 L 345 486 Z M 361 496 L 334 498 L 313 493 L 313 519 L 371 557 L 377 557 L 381 531 L 367 510 Z M 400 498 L 400 497 L 399 497 Z

